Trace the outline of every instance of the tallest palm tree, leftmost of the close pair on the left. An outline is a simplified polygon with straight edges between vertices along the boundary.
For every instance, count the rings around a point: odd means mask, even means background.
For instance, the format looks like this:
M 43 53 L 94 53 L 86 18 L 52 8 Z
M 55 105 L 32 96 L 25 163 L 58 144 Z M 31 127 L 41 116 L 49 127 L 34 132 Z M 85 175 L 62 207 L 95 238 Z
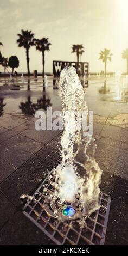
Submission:
M 30 76 L 30 69 L 29 69 L 29 48 L 34 45 L 33 37 L 34 34 L 31 31 L 24 31 L 22 29 L 21 34 L 18 35 L 17 44 L 18 47 L 24 47 L 26 49 L 26 59 L 27 59 L 27 69 L 28 69 L 28 76 Z

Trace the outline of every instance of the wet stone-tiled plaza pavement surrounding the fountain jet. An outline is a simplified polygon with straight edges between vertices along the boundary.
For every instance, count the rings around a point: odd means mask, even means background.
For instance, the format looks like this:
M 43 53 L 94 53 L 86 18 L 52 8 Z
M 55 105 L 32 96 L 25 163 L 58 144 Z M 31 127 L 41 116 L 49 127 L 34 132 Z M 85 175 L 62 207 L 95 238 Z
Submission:
M 119 79 L 119 78 L 118 78 Z M 101 191 L 112 197 L 106 245 L 128 244 L 128 83 L 90 77 L 86 89 L 89 111 L 94 111 L 95 158 L 103 170 Z M 54 81 L 58 86 L 57 80 Z M 61 131 L 36 131 L 35 109 L 61 110 L 53 78 L 0 79 L 0 244 L 53 245 L 22 214 L 21 194 L 33 194 L 48 171 L 60 160 Z

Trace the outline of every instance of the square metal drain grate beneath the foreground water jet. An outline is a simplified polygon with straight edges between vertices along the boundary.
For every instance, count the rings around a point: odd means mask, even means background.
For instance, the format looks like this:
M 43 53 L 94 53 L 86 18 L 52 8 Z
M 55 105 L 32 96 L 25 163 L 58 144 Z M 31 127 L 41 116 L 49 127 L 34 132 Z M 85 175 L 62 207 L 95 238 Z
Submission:
M 47 195 L 43 192 L 46 187 L 50 191 L 54 189 L 48 176 L 33 194 L 36 200 L 25 204 L 24 215 L 57 245 L 104 245 L 111 198 L 101 193 L 101 207 L 87 217 L 84 228 L 80 228 L 78 220 L 60 222 L 54 217 L 54 212 L 47 210 L 44 203 Z

